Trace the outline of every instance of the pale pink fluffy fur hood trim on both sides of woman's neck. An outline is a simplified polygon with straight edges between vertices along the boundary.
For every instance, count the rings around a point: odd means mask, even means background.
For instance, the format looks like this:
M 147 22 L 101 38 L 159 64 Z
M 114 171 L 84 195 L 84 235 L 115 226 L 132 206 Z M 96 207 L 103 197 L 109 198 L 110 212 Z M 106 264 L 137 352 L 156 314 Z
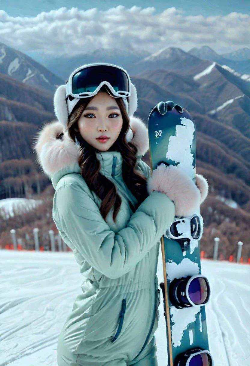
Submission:
M 130 127 L 133 130 L 130 142 L 137 147 L 137 156 L 144 155 L 149 149 L 148 129 L 139 117 L 130 117 Z M 46 123 L 35 139 L 37 162 L 46 175 L 78 163 L 81 149 L 57 120 Z

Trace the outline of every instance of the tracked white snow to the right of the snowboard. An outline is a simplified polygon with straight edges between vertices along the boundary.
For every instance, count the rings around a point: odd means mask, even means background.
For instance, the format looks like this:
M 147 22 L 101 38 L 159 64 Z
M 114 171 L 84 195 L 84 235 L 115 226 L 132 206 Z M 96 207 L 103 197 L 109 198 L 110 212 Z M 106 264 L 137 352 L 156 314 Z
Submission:
M 216 365 L 250 365 L 250 266 L 202 261 L 211 285 L 206 306 L 209 345 Z

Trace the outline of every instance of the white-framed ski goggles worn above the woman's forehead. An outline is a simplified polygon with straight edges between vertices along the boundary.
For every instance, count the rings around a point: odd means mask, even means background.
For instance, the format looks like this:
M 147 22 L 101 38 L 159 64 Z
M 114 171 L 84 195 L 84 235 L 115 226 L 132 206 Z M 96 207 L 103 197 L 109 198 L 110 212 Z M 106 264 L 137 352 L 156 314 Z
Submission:
M 66 82 L 66 98 L 87 98 L 107 85 L 114 97 L 129 97 L 131 81 L 124 68 L 109 63 L 85 64 L 74 70 Z

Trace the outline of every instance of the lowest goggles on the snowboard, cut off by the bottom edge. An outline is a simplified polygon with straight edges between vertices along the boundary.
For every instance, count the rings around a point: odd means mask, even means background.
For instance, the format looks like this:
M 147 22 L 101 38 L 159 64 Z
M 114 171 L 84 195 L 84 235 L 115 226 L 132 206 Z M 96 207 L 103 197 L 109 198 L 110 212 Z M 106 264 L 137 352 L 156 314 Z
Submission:
M 207 350 L 193 348 L 176 356 L 174 366 L 213 366 L 213 357 Z

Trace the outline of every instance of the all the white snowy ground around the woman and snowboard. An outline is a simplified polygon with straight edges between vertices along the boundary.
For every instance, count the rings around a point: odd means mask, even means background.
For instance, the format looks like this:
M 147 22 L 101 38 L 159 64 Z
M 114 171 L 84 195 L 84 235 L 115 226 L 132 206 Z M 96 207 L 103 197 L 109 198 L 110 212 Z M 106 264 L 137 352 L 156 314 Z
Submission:
M 215 366 L 250 365 L 250 265 L 203 260 L 211 285 L 206 306 Z M 163 281 L 161 249 L 159 282 Z M 84 277 L 73 253 L 0 251 L 0 366 L 57 366 L 57 339 Z M 156 330 L 167 365 L 163 298 Z

